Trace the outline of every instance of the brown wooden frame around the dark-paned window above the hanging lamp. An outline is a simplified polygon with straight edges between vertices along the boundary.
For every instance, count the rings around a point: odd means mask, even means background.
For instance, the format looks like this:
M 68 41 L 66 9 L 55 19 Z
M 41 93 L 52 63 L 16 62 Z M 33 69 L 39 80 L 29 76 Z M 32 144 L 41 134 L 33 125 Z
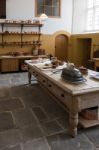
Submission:
M 43 1 L 45 1 L 45 0 L 43 0 Z M 37 14 L 37 8 L 38 8 L 38 2 L 37 2 L 37 0 L 35 0 L 35 17 L 39 17 L 40 16 L 40 15 Z M 45 13 L 45 12 L 43 11 L 42 13 Z M 59 0 L 59 16 L 49 16 L 48 15 L 48 17 L 49 18 L 61 18 L 61 0 Z

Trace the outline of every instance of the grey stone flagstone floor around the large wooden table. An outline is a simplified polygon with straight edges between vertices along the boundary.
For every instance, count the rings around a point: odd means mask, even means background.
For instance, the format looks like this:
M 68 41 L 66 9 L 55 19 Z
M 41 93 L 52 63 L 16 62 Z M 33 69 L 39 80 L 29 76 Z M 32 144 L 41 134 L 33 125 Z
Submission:
M 0 150 L 99 150 L 99 126 L 67 133 L 68 114 L 27 73 L 0 74 Z

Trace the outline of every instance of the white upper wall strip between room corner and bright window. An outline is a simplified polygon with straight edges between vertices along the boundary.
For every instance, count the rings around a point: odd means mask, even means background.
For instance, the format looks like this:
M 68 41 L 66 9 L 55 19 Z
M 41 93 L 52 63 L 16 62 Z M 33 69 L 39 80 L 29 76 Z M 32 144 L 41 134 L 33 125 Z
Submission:
M 73 0 L 72 34 L 85 32 L 87 0 Z

